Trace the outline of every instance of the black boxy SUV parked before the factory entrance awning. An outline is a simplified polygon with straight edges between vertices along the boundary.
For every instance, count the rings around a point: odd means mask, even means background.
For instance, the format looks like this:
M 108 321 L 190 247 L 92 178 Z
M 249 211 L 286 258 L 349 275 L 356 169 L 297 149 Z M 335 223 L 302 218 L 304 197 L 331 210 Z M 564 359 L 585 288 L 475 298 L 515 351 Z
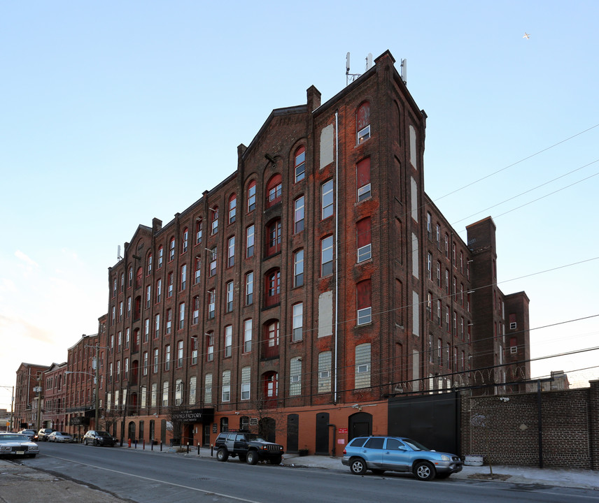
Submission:
M 255 465 L 258 461 L 269 460 L 272 465 L 280 465 L 283 459 L 283 446 L 267 442 L 247 430 L 229 430 L 216 437 L 216 459 L 226 461 L 229 456 L 239 456 L 239 460 Z

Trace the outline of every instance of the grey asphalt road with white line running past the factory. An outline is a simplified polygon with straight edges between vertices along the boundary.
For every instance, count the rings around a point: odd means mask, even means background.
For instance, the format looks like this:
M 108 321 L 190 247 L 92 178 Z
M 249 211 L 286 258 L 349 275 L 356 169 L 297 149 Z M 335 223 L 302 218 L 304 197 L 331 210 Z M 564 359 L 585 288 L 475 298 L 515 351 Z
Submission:
M 68 477 L 139 503 L 485 503 L 599 502 L 597 491 L 493 481 L 421 482 L 402 474 L 355 476 L 344 467 L 308 469 L 255 466 L 81 444 L 41 443 L 25 465 Z

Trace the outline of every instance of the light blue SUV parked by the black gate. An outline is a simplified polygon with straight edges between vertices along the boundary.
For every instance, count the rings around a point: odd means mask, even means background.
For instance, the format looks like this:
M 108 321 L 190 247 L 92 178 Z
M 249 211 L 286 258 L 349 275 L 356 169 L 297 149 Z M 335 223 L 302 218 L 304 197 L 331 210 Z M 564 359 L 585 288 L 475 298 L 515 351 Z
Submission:
M 356 475 L 371 470 L 384 472 L 411 472 L 416 479 L 429 481 L 446 479 L 461 472 L 463 462 L 455 454 L 431 451 L 405 437 L 356 437 L 343 451 L 341 463 Z

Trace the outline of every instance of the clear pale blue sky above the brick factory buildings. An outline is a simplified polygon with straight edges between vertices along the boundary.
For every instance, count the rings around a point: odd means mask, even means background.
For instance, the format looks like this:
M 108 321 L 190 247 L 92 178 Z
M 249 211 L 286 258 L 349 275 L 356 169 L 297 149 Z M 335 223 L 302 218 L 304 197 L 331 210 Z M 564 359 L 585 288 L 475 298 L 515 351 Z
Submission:
M 311 85 L 337 94 L 346 52 L 352 73 L 369 52 L 407 59 L 425 190 L 464 239 L 495 219 L 500 288 L 530 297 L 533 357 L 598 346 L 598 318 L 572 320 L 599 313 L 599 3 L 414 4 L 3 3 L 0 386 L 95 333 L 118 245 L 233 173 L 273 108 Z M 598 367 L 574 371 L 596 360 L 540 360 L 533 377 L 584 385 Z

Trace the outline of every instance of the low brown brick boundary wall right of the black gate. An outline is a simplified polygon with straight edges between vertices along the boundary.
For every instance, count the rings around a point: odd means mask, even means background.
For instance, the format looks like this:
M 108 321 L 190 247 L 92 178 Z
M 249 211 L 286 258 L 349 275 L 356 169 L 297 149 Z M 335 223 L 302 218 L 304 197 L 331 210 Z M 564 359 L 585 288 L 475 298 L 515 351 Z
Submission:
M 490 455 L 497 464 L 540 465 L 542 450 L 544 467 L 599 469 L 599 380 L 590 384 L 544 391 L 540 399 L 536 392 L 463 397 L 460 454 L 483 455 L 485 462 Z

